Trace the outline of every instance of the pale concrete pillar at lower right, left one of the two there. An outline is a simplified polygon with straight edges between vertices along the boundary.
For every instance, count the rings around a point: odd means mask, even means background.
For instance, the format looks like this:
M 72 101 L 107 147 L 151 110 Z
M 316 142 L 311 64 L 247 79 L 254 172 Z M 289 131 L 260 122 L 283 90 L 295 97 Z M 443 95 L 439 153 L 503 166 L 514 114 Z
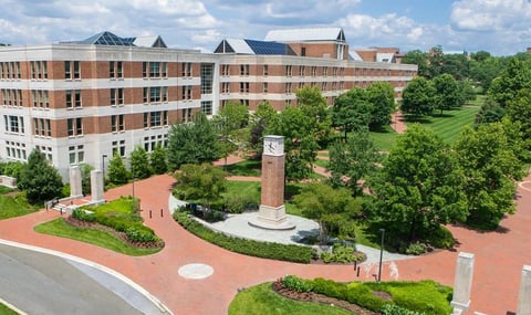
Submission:
M 470 292 L 473 277 L 473 254 L 459 253 L 454 281 L 454 314 L 462 314 L 470 306 Z

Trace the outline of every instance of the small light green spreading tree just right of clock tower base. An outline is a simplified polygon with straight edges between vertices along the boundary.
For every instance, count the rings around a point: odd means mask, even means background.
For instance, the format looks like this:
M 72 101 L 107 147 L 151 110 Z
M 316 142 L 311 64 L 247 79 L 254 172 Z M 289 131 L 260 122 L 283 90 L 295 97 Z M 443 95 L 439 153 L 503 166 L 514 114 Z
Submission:
M 304 217 L 320 223 L 321 237 L 332 234 L 354 239 L 354 221 L 362 211 L 362 202 L 351 196 L 348 189 L 334 189 L 325 183 L 305 185 L 293 203 Z

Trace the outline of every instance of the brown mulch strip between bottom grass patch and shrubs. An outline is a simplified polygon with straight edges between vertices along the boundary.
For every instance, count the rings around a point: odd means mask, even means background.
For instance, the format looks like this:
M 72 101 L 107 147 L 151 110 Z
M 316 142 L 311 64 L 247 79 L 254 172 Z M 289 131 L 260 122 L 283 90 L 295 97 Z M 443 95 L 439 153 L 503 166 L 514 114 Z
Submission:
M 294 301 L 314 302 L 314 303 L 334 305 L 358 315 L 381 315 L 382 314 L 382 313 L 368 311 L 366 308 L 361 307 L 360 305 L 352 304 L 348 301 L 337 300 L 335 297 L 330 297 L 323 294 L 317 294 L 314 292 L 296 292 L 294 290 L 285 287 L 282 284 L 281 279 L 273 282 L 273 291 L 284 297 L 288 297 Z

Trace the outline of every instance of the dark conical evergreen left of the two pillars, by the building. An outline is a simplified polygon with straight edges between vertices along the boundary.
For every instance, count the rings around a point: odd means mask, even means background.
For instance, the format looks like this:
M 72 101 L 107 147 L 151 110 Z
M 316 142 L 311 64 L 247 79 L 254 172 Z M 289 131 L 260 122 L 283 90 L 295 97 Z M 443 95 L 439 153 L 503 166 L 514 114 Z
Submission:
M 19 188 L 25 190 L 28 201 L 38 203 L 60 197 L 62 187 L 59 171 L 49 164 L 43 153 L 33 149 L 19 182 Z

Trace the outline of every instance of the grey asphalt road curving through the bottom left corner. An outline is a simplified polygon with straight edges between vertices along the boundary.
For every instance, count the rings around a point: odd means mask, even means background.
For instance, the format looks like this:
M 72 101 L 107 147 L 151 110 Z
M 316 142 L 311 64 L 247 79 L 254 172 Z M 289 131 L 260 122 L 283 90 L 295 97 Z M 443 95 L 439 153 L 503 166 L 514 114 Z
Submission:
M 103 277 L 116 286 L 114 277 L 79 263 L 0 244 L 0 297 L 27 314 L 155 314 L 133 307 L 115 293 L 133 290 L 110 291 Z

